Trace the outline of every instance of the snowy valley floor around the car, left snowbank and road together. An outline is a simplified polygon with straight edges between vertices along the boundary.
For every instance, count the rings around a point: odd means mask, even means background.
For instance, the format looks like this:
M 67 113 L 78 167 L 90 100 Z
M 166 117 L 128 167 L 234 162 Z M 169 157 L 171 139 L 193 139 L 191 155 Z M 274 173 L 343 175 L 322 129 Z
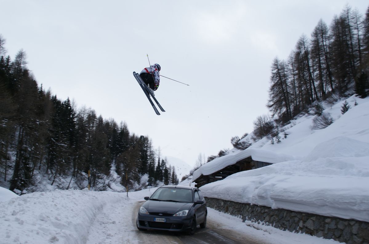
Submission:
M 1 188 L 0 188 L 1 189 Z M 0 244 L 328 244 L 333 240 L 282 231 L 208 208 L 207 227 L 193 236 L 139 231 L 136 217 L 155 189 L 129 192 L 56 190 L 5 199 L 0 191 Z

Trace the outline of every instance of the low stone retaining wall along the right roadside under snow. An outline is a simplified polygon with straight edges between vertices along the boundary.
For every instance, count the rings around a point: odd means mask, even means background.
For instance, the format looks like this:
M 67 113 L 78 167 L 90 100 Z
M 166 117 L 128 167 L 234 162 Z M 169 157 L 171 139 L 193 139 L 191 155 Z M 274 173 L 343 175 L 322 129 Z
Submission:
M 369 244 L 369 223 L 336 217 L 272 209 L 249 203 L 206 198 L 206 205 L 220 212 L 241 217 L 242 220 L 264 222 L 280 230 L 306 233 L 311 236 L 334 239 L 348 244 Z

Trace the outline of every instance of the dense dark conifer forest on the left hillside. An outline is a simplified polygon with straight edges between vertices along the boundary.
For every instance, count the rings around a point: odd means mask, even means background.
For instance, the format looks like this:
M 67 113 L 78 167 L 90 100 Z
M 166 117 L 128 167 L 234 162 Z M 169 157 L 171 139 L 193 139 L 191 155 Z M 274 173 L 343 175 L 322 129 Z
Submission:
M 178 184 L 175 168 L 151 139 L 45 91 L 27 69 L 25 51 L 12 60 L 5 44 L 0 35 L 1 186 L 35 191 L 47 182 L 59 189 L 82 189 L 88 182 L 103 190 L 112 170 L 127 189 Z M 140 182 L 146 174 L 148 181 Z

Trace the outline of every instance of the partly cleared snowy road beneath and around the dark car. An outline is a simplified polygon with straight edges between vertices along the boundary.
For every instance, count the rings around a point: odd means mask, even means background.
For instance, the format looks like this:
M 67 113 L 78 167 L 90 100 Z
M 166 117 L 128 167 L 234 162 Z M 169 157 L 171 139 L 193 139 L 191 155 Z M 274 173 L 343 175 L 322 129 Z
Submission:
M 247 237 L 230 229 L 222 229 L 209 214 L 207 228 L 197 228 L 193 236 L 169 231 L 139 231 L 136 218 L 143 201 L 117 202 L 107 206 L 98 215 L 89 231 L 89 244 L 135 244 L 135 243 L 176 243 L 176 244 L 260 244 L 265 243 Z

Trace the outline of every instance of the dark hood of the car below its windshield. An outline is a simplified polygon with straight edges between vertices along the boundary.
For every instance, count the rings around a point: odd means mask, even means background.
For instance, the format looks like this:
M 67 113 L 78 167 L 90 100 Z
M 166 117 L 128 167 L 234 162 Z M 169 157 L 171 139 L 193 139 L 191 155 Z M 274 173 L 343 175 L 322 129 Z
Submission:
M 175 214 L 180 210 L 189 210 L 193 203 L 186 202 L 164 202 L 148 200 L 142 206 L 149 213 L 170 213 Z

